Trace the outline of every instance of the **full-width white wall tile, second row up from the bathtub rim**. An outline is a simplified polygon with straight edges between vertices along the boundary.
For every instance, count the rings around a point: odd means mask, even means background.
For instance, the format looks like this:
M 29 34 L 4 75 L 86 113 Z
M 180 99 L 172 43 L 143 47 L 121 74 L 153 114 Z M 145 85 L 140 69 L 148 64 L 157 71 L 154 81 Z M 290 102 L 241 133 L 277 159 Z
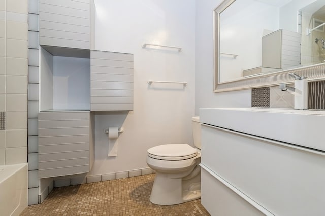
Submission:
M 6 130 L 6 147 L 27 147 L 27 129 Z

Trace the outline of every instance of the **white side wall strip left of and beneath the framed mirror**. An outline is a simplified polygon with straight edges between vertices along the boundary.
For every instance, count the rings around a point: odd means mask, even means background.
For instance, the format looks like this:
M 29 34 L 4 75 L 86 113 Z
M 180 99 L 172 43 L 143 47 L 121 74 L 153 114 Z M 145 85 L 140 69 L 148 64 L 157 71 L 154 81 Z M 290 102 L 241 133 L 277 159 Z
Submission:
M 196 115 L 200 107 L 250 107 L 251 90 L 213 92 L 213 10 L 221 0 L 196 0 Z

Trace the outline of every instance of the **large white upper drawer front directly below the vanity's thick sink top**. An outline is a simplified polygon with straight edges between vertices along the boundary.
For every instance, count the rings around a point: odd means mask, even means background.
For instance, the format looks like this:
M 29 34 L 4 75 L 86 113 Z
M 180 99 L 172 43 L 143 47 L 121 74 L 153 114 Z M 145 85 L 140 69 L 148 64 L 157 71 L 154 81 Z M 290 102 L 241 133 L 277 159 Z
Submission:
M 324 154 L 281 144 L 203 125 L 201 163 L 275 215 L 321 215 Z

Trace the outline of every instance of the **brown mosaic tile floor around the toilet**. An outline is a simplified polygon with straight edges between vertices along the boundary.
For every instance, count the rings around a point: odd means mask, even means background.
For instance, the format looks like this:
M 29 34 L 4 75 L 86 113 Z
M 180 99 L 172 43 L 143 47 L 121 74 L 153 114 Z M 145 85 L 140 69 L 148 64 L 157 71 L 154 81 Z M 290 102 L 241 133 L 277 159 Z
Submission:
M 54 188 L 21 215 L 210 215 L 200 199 L 177 205 L 149 201 L 154 174 Z

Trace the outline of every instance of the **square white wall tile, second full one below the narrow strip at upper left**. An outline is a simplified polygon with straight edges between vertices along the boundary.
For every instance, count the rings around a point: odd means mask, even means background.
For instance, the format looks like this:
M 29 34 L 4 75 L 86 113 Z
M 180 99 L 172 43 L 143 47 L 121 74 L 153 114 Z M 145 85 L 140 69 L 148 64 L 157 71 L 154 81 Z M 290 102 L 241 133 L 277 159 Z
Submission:
M 6 39 L 7 57 L 28 58 L 28 41 Z

